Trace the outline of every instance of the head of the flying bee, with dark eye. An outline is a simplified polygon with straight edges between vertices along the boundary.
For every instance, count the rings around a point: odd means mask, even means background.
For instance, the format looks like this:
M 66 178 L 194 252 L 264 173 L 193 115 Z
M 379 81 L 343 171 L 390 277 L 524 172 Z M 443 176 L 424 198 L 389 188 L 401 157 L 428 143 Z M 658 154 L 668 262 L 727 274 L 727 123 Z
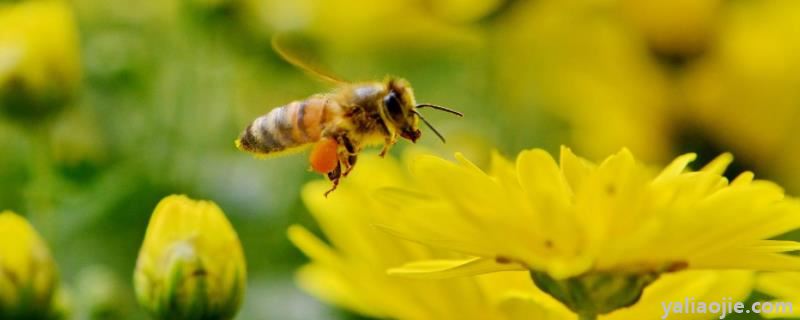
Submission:
M 402 79 L 389 79 L 382 101 L 384 122 L 390 131 L 416 142 L 422 133 L 419 131 L 419 115 L 414 108 L 414 92 L 408 82 Z

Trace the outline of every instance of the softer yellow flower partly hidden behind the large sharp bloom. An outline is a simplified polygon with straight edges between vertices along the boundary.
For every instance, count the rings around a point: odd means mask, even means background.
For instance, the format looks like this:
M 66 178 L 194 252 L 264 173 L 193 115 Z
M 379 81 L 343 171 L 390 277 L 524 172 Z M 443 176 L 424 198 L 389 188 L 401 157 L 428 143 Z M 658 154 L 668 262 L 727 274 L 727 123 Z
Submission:
M 404 261 L 447 253 L 376 230 L 376 216 L 392 215 L 374 197 L 381 188 L 408 188 L 412 180 L 393 159 L 360 159 L 347 183 L 328 199 L 326 181 L 312 182 L 303 200 L 330 244 L 301 226 L 289 237 L 311 258 L 297 273 L 299 285 L 329 303 L 364 315 L 391 319 L 577 319 L 538 290 L 524 271 L 426 281 L 392 277 L 386 269 Z M 454 256 L 454 254 L 450 254 Z M 457 255 L 455 255 L 457 256 Z M 684 297 L 717 301 L 744 299 L 752 288 L 749 271 L 689 271 L 665 275 L 631 308 L 601 319 L 640 320 L 663 315 L 662 301 Z M 711 319 L 713 315 L 693 319 Z

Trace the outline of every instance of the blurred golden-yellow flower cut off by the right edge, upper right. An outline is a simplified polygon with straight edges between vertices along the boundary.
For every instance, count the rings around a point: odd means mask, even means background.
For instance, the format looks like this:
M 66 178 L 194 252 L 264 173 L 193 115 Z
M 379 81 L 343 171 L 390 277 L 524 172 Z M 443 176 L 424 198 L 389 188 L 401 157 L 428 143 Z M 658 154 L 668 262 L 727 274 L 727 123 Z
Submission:
M 688 66 L 678 112 L 707 140 L 800 192 L 800 2 L 729 2 L 713 47 Z

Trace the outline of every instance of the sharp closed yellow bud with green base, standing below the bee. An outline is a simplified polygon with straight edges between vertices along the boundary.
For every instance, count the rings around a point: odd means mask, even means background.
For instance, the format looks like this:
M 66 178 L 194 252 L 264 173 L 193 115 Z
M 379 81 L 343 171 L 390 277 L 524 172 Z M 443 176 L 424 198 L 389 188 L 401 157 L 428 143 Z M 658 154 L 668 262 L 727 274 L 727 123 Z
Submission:
M 136 263 L 139 303 L 157 319 L 232 319 L 247 273 L 216 204 L 172 195 L 156 206 Z

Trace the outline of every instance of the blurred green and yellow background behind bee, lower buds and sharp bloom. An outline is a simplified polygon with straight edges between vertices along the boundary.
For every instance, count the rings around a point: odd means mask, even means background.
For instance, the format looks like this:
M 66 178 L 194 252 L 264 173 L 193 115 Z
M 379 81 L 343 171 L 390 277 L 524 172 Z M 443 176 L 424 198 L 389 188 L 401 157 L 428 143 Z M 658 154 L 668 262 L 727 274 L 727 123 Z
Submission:
M 731 151 L 731 175 L 800 192 L 797 1 L 2 1 L 0 209 L 46 238 L 79 319 L 144 318 L 131 274 L 172 193 L 217 202 L 237 229 L 239 318 L 355 317 L 292 283 L 306 259 L 286 228 L 314 226 L 307 156 L 233 146 L 255 117 L 331 89 L 272 51 L 279 33 L 346 79 L 401 76 L 419 102 L 463 111 L 428 116 L 448 144 L 420 143 L 443 156 Z

